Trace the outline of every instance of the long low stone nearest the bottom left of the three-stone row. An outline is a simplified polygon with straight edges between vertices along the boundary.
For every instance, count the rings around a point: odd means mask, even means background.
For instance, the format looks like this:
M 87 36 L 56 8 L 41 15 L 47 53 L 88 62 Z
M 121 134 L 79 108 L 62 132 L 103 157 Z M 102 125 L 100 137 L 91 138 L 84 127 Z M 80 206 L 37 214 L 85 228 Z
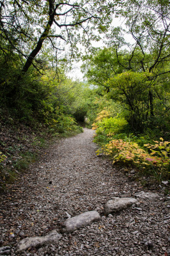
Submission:
M 59 242 L 60 238 L 61 238 L 61 235 L 57 233 L 56 230 L 53 230 L 47 236 L 36 236 L 33 238 L 25 238 L 25 239 L 22 239 L 17 244 L 17 251 L 20 252 L 28 249 L 29 247 L 37 247 L 37 246 L 40 247 L 49 243 L 57 243 Z

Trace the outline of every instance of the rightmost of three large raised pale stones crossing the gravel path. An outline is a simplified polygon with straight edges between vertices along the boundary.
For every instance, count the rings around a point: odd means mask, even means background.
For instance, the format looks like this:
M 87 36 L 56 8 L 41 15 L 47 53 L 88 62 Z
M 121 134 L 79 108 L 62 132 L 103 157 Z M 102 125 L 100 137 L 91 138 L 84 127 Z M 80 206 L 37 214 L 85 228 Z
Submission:
M 105 214 L 108 215 L 109 213 L 119 212 L 120 210 L 126 209 L 133 204 L 136 204 L 136 202 L 137 199 L 132 197 L 114 197 L 106 203 Z

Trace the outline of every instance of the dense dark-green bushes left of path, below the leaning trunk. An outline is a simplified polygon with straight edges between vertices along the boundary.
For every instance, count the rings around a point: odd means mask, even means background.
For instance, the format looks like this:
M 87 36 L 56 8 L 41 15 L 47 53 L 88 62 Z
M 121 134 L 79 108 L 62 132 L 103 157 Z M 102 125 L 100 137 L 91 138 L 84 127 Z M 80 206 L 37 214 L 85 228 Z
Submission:
M 46 70 L 43 76 L 31 68 L 17 81 L 20 65 L 17 66 L 16 61 L 17 55 L 16 58 L 9 59 L 0 57 L 0 81 L 6 80 L 0 86 L 1 121 L 14 122 L 18 119 L 28 126 L 40 129 L 45 125 L 50 133 L 77 129 L 72 106 L 79 101 L 79 107 L 83 111 L 83 96 L 79 97 L 83 85 L 71 81 L 64 73 L 58 77 L 52 68 Z M 15 67 L 12 73 L 11 65 Z

